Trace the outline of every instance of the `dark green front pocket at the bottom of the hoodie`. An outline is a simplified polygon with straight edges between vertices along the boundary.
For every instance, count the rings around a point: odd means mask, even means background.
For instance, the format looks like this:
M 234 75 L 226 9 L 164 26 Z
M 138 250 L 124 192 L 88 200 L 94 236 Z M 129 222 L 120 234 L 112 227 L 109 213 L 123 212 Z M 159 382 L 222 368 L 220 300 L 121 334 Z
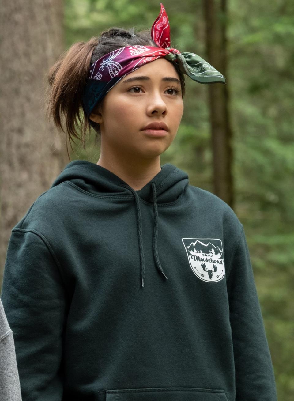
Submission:
M 228 401 L 222 389 L 151 387 L 106 390 L 106 401 Z

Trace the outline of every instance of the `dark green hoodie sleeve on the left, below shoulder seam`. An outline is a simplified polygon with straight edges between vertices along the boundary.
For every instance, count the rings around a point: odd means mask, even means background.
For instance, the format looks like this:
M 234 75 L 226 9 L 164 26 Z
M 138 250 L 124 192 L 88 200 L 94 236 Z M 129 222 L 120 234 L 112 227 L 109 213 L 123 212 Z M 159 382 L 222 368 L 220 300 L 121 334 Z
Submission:
M 14 335 L 22 401 L 62 399 L 67 297 L 57 263 L 42 234 L 12 230 L 1 298 Z

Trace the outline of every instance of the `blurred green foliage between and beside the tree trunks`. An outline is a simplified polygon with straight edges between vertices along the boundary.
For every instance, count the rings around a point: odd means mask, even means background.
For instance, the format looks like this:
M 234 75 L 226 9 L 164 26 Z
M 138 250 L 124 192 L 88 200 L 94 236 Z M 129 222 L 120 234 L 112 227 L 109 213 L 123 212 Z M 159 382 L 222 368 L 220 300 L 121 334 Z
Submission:
M 205 26 L 199 0 L 164 3 L 172 47 L 205 59 Z M 159 1 L 65 1 L 66 47 L 110 26 L 151 28 Z M 294 394 L 294 2 L 228 2 L 228 73 L 233 128 L 235 213 L 244 225 L 278 399 Z M 208 60 L 209 61 L 209 60 Z M 186 80 L 178 134 L 161 156 L 187 171 L 190 183 L 213 192 L 207 85 Z M 97 162 L 89 136 L 76 158 Z

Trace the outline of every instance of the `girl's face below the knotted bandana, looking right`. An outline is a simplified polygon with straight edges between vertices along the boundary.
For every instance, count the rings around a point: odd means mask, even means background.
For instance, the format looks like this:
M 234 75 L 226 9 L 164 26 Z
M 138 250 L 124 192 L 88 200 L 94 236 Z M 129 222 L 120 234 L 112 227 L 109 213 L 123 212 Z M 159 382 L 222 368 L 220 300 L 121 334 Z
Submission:
M 178 73 L 170 61 L 160 57 L 114 85 L 103 98 L 100 115 L 92 113 L 90 118 L 100 124 L 101 154 L 142 160 L 159 156 L 170 146 L 183 110 Z M 164 122 L 166 136 L 154 138 L 142 131 L 152 122 Z

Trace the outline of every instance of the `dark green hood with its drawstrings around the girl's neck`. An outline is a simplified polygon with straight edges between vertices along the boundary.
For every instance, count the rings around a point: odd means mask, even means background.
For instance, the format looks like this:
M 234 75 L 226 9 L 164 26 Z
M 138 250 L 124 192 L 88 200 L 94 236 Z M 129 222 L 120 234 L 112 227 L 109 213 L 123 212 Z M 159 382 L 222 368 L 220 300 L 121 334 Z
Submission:
M 138 244 L 140 248 L 140 282 L 144 287 L 145 258 L 142 239 L 142 214 L 140 198 L 153 205 L 153 255 L 156 268 L 163 279 L 167 279 L 158 256 L 158 204 L 168 206 L 177 201 L 178 197 L 189 185 L 188 174 L 173 164 L 160 166 L 161 170 L 140 190 L 134 190 L 124 180 L 113 172 L 87 160 L 73 160 L 53 182 L 51 188 L 65 181 L 70 181 L 82 190 L 101 196 L 122 196 L 134 198 L 137 220 Z

